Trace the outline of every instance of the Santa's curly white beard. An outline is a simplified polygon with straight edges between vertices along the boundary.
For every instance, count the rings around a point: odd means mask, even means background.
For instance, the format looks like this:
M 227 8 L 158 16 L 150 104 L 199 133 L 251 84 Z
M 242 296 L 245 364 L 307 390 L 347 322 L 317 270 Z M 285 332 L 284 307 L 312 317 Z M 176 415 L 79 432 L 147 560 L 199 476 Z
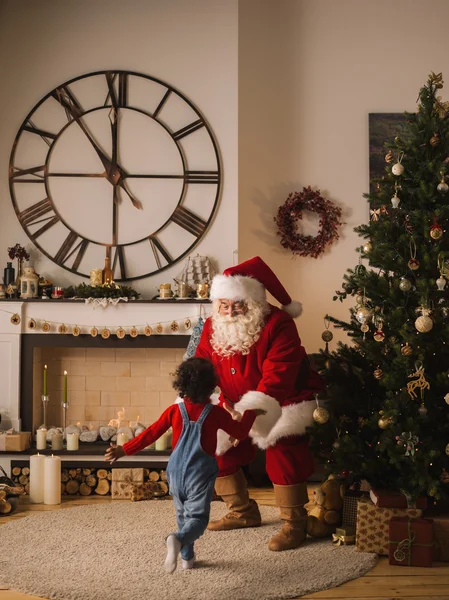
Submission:
M 269 312 L 266 303 L 248 303 L 244 315 L 231 317 L 218 314 L 218 306 L 212 313 L 211 345 L 217 354 L 228 357 L 233 354 L 249 354 L 251 347 L 260 337 L 265 325 L 265 316 Z

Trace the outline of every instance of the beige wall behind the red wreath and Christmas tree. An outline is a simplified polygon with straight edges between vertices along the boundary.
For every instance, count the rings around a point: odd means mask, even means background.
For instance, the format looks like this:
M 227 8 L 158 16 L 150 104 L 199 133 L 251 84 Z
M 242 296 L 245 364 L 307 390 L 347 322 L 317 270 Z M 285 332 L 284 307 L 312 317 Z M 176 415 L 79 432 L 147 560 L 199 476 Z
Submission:
M 239 258 L 264 257 L 303 302 L 309 352 L 322 346 L 327 312 L 348 316 L 332 296 L 358 260 L 352 229 L 368 219 L 368 114 L 413 111 L 430 71 L 449 84 L 448 22 L 447 0 L 240 2 Z M 346 225 L 320 258 L 293 260 L 273 216 L 308 185 L 342 207 Z

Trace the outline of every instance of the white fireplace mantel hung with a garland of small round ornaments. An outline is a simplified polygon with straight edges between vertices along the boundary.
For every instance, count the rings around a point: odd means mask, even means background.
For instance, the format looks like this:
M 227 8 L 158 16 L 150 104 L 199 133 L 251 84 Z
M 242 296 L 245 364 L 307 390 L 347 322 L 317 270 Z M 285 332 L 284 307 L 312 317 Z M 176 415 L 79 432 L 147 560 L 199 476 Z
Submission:
M 73 327 L 78 326 L 81 339 L 84 339 L 86 344 L 91 341 L 98 347 L 103 342 L 105 345 L 110 343 L 112 338 L 117 343 L 136 342 L 140 346 L 145 343 L 144 340 L 147 340 L 148 346 L 155 347 L 157 337 L 189 335 L 190 330 L 185 326 L 186 320 L 190 320 L 194 325 L 200 315 L 207 316 L 210 308 L 211 304 L 208 300 L 133 300 L 106 308 L 93 308 L 83 300 L 0 301 L 0 410 L 7 415 L 0 428 L 22 429 L 20 365 L 24 336 L 38 335 L 54 340 L 55 345 L 64 345 L 61 338 L 71 338 L 73 341 L 75 338 L 72 330 Z M 19 315 L 19 324 L 11 322 L 13 315 Z M 34 328 L 30 328 L 31 320 L 36 323 Z M 173 332 L 170 328 L 173 321 L 179 325 L 177 332 Z M 50 325 L 48 333 L 43 333 L 43 323 Z M 158 323 L 163 326 L 162 335 L 146 337 L 145 326 L 150 325 L 154 331 Z M 58 333 L 61 324 L 67 326 L 65 335 Z M 90 336 L 93 327 L 99 331 L 96 338 Z M 122 327 L 127 334 L 124 340 L 118 340 L 115 336 L 119 327 Z M 134 327 L 139 334 L 137 338 L 128 335 L 130 329 Z M 109 340 L 101 338 L 100 332 L 104 328 L 111 332 Z

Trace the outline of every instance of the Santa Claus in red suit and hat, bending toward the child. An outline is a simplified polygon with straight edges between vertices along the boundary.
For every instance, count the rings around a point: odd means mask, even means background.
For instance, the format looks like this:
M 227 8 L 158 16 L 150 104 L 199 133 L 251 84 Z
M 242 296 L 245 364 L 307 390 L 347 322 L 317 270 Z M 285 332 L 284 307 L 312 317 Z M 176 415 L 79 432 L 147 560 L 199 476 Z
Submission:
M 282 310 L 267 302 L 266 291 Z M 249 438 L 237 446 L 224 432 L 219 439 L 215 489 L 229 512 L 208 528 L 219 531 L 261 524 L 241 469 L 254 460 L 259 447 L 266 450 L 266 470 L 283 521 L 268 547 L 275 551 L 296 548 L 306 537 L 305 482 L 313 472 L 305 433 L 313 422 L 313 396 L 322 389 L 293 321 L 301 305 L 292 302 L 258 256 L 215 276 L 211 299 L 212 316 L 206 320 L 196 355 L 215 366 L 221 390 L 218 402 L 239 413 L 247 409 L 266 412 L 257 417 Z

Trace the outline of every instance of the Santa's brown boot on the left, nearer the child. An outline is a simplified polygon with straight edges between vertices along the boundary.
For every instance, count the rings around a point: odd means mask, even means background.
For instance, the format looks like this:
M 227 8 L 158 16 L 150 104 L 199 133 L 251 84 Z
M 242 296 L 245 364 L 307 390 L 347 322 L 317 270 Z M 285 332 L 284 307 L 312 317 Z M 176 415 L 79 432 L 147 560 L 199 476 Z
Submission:
M 259 507 L 249 497 L 246 479 L 241 469 L 232 475 L 218 477 L 215 490 L 223 498 L 230 512 L 218 521 L 210 521 L 207 526 L 210 531 L 258 527 L 261 524 Z

